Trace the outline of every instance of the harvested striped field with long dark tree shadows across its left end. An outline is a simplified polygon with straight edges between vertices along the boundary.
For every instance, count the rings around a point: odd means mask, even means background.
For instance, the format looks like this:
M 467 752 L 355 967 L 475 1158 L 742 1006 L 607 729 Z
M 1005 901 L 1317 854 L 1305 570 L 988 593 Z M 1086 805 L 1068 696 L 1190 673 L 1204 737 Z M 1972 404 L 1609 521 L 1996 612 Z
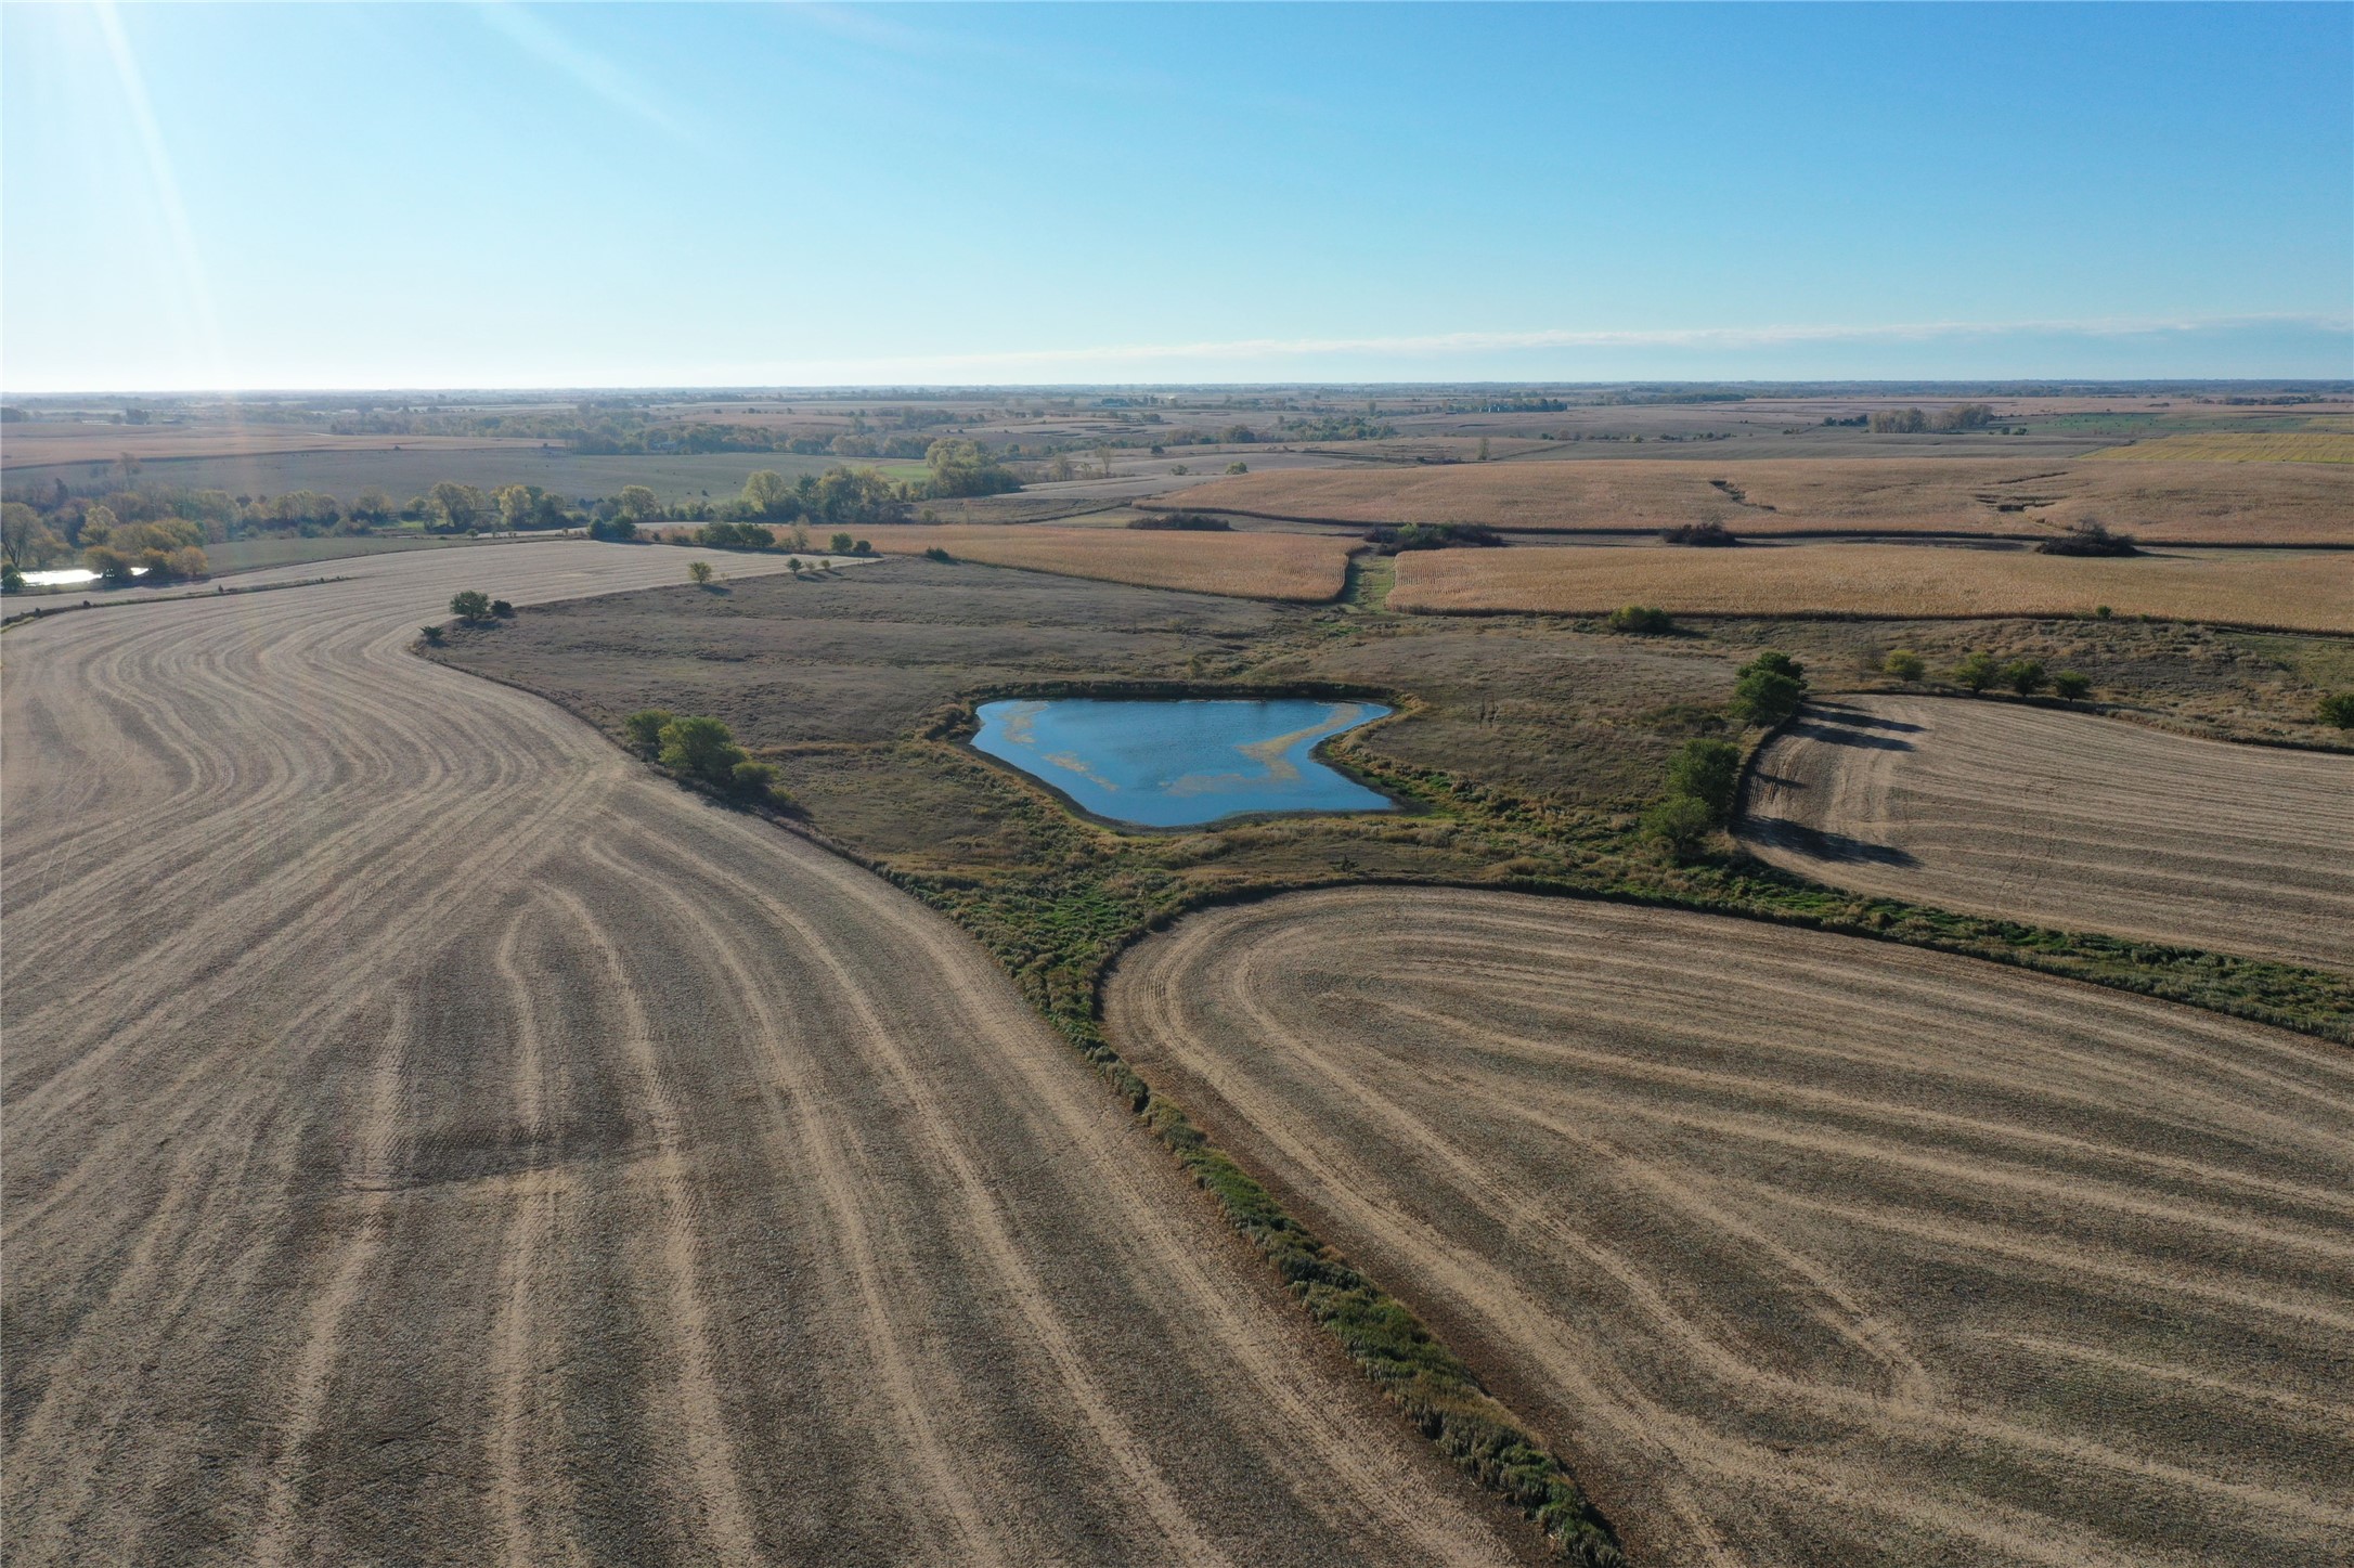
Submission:
M 2354 970 L 2354 756 L 1838 697 L 1758 756 L 1740 833 L 1860 892 Z

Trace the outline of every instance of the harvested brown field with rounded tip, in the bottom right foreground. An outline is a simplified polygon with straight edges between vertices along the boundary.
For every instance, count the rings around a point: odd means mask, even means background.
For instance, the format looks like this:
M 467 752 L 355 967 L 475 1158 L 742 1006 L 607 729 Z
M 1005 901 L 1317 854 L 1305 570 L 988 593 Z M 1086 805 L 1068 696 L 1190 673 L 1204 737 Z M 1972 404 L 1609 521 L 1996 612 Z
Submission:
M 1396 888 L 1191 916 L 1109 1019 L 1568 1448 L 1631 1561 L 2345 1561 L 2345 1048 Z

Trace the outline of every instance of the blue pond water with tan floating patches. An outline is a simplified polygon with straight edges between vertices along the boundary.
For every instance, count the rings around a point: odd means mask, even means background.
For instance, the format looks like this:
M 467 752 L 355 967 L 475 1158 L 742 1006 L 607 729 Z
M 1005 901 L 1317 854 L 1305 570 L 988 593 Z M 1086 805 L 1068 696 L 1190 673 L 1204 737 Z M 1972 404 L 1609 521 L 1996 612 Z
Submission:
M 1377 702 L 1146 699 L 984 702 L 975 749 L 1137 826 L 1243 812 L 1387 812 L 1391 800 L 1325 768 L 1316 742 L 1389 713 Z

